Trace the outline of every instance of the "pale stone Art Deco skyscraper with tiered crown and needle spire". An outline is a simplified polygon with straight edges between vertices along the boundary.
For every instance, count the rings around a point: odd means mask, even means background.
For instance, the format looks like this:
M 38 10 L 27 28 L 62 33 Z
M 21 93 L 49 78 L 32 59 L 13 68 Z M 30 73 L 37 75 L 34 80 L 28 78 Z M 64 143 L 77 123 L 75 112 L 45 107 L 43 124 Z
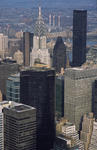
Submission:
M 30 54 L 30 66 L 33 66 L 37 61 L 50 66 L 50 54 L 46 45 L 46 25 L 39 7 L 39 16 L 35 24 L 33 49 Z

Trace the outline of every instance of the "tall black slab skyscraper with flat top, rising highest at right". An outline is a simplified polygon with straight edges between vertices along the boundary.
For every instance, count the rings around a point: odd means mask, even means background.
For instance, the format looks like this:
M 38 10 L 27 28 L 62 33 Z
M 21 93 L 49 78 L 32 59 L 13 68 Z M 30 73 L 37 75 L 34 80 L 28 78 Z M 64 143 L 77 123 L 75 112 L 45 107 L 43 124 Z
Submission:
M 73 12 L 73 66 L 81 66 L 86 61 L 87 11 Z

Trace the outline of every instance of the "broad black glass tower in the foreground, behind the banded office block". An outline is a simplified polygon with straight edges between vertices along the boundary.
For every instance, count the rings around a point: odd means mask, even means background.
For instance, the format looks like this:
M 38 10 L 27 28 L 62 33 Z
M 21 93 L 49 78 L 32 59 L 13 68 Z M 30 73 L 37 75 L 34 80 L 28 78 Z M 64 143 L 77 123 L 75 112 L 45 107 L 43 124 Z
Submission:
M 50 150 L 55 139 L 55 71 L 29 68 L 20 73 L 21 102 L 37 109 L 37 148 Z

